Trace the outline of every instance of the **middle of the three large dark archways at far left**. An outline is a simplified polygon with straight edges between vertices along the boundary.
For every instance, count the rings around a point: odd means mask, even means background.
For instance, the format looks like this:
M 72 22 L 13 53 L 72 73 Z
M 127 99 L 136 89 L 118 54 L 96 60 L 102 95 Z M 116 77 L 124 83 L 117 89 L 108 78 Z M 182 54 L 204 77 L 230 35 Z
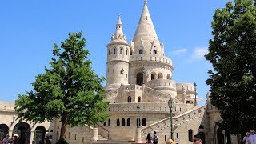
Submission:
M 31 128 L 26 122 L 18 122 L 14 126 L 13 134 L 19 135 L 19 144 L 30 143 Z

